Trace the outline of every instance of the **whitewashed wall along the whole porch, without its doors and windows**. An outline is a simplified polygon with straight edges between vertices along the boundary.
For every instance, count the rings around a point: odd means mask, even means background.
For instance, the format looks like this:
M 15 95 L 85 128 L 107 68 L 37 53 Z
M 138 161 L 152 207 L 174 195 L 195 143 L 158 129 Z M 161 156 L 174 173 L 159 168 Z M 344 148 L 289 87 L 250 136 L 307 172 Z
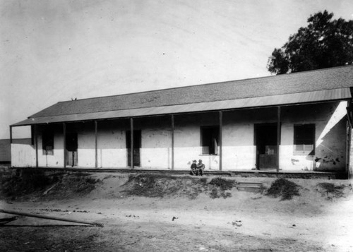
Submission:
M 280 169 L 290 171 L 345 169 L 346 102 L 282 107 Z M 219 169 L 219 155 L 202 155 L 201 126 L 217 126 L 219 114 L 176 115 L 174 122 L 174 169 L 189 169 L 192 160 L 203 160 L 206 169 Z M 254 125 L 277 122 L 277 108 L 248 109 L 223 113 L 223 170 L 256 168 Z M 315 155 L 294 155 L 294 124 L 316 125 Z M 54 153 L 44 155 L 38 134 L 40 167 L 64 166 L 62 126 L 54 126 Z M 78 133 L 78 166 L 95 167 L 95 131 L 92 122 L 68 124 Z M 129 120 L 98 122 L 98 167 L 127 167 L 126 131 Z M 172 131 L 170 116 L 134 119 L 141 130 L 140 164 L 146 169 L 171 169 Z M 39 127 L 40 131 L 40 127 Z M 32 145 L 11 145 L 14 167 L 34 167 Z

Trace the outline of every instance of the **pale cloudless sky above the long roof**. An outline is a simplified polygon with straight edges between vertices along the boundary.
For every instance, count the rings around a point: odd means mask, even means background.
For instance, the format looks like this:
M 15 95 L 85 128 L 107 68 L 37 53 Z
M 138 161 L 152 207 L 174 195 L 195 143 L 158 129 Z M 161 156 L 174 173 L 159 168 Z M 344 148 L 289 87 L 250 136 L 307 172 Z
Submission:
M 273 49 L 325 9 L 353 19 L 352 0 L 1 0 L 0 139 L 71 98 L 270 76 Z

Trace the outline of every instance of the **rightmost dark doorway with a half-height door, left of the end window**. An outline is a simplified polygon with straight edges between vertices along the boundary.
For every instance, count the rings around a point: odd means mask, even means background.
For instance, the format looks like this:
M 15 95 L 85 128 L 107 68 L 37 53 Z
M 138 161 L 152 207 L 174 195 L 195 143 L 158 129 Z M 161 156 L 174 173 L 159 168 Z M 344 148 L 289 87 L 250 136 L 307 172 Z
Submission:
M 257 169 L 277 169 L 277 124 L 256 124 Z

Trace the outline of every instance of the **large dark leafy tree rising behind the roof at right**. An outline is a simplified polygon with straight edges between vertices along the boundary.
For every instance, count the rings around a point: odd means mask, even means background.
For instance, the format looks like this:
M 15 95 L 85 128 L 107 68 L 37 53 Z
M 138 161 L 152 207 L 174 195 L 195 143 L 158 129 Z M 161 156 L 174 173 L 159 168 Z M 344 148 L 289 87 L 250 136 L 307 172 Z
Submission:
M 333 13 L 323 11 L 310 16 L 308 23 L 273 50 L 268 71 L 282 74 L 353 64 L 353 20 L 333 20 Z

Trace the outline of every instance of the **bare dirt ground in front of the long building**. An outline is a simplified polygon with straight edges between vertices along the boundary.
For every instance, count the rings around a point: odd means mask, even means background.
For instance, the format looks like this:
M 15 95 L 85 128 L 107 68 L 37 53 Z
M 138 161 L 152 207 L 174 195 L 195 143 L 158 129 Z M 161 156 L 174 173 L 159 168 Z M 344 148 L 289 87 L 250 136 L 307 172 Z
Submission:
M 251 193 L 236 187 L 227 190 L 227 197 L 212 197 L 214 191 L 207 187 L 212 177 L 156 179 L 154 185 L 162 190 L 150 195 L 148 181 L 131 180 L 131 174 L 89 178 L 94 184 L 90 190 L 72 191 L 73 181 L 61 179 L 60 184 L 56 181 L 22 196 L 3 193 L 0 208 L 100 222 L 104 227 L 18 217 L 0 226 L 0 250 L 353 251 L 349 181 L 289 179 L 300 186 L 300 196 L 281 200 L 266 196 L 266 190 Z M 275 181 L 226 179 L 261 182 L 265 188 Z M 340 186 L 341 193 L 329 193 L 319 183 Z M 158 194 L 162 191 L 168 193 Z M 0 218 L 11 216 L 0 213 Z

